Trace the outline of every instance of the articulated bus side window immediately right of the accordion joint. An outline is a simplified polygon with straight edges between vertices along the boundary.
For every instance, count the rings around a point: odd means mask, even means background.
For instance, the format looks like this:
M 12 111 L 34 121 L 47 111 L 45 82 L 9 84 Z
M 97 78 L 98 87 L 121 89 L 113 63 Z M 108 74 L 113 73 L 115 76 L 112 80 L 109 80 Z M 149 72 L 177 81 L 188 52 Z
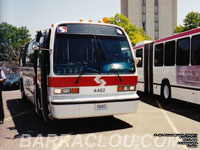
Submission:
M 154 65 L 155 66 L 163 66 L 163 49 L 164 44 L 157 44 L 155 46 L 155 54 L 154 54 Z

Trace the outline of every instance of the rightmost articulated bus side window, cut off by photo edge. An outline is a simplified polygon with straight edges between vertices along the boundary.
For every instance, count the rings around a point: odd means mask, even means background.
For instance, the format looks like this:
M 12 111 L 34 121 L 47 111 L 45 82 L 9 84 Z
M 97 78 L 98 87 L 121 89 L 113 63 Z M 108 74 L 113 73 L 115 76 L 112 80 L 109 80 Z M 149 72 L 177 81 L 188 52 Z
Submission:
M 200 65 L 200 35 L 192 37 L 191 64 Z

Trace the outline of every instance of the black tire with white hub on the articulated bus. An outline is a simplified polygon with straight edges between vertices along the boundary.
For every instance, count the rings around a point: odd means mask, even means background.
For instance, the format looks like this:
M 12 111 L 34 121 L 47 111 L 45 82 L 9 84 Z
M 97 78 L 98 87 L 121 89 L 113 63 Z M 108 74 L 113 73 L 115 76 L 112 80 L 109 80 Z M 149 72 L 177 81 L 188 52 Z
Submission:
M 162 82 L 161 85 L 161 99 L 164 102 L 169 102 L 171 99 L 171 88 L 168 80 Z

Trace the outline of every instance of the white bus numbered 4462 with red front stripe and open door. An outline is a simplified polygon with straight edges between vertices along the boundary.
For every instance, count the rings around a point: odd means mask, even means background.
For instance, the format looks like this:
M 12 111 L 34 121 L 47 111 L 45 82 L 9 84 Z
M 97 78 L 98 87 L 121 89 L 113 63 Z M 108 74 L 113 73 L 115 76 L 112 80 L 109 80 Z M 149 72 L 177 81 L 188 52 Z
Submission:
M 53 24 L 25 46 L 20 66 L 22 96 L 45 121 L 137 110 L 135 56 L 118 26 Z

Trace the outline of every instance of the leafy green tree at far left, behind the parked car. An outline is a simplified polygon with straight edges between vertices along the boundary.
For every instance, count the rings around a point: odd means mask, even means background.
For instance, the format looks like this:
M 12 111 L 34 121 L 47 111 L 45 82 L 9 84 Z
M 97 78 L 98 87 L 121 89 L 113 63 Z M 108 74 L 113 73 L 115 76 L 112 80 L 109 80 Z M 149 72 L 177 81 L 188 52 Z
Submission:
M 6 22 L 0 24 L 0 61 L 17 64 L 20 51 L 25 43 L 31 40 L 26 27 L 15 27 Z

